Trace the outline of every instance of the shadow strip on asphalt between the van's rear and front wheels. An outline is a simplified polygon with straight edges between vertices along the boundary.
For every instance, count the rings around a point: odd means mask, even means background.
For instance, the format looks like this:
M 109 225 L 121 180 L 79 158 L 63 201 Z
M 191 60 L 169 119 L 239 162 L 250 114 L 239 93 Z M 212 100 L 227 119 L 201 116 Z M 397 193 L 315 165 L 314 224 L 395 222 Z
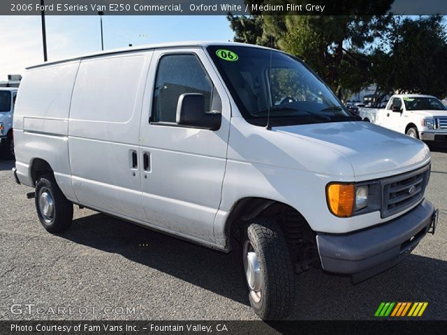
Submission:
M 242 265 L 235 257 L 237 253 L 212 251 L 103 214 L 75 219 L 61 237 L 108 253 L 119 253 L 133 262 L 249 304 Z

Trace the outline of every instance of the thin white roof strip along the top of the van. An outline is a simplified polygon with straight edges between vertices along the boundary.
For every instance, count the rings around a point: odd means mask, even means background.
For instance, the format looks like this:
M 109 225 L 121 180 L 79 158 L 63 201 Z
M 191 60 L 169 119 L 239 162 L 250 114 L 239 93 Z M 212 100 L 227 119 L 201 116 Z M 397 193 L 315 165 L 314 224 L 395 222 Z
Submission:
M 165 47 L 208 47 L 210 45 L 228 45 L 228 46 L 242 46 L 242 47 L 260 47 L 263 49 L 270 49 L 268 47 L 262 47 L 260 45 L 252 45 L 247 43 L 237 43 L 237 42 L 223 42 L 223 41 L 200 41 L 200 40 L 193 40 L 193 41 L 182 41 L 182 42 L 168 42 L 168 43 L 155 43 L 155 44 L 147 44 L 147 45 L 136 45 L 135 47 L 122 47 L 115 50 L 105 50 L 101 52 L 93 52 L 91 54 L 82 54 L 78 57 L 71 57 L 68 59 L 58 59 L 54 61 L 45 61 L 41 64 L 36 64 L 34 66 L 29 66 L 27 70 L 31 68 L 38 68 L 41 66 L 48 66 L 52 64 L 57 63 L 64 63 L 66 61 L 75 61 L 78 59 L 84 59 L 84 58 L 90 58 L 90 57 L 98 57 L 102 55 L 107 54 L 120 54 L 125 52 L 135 52 L 135 51 L 141 51 L 141 50 L 151 50 L 151 49 L 161 49 Z

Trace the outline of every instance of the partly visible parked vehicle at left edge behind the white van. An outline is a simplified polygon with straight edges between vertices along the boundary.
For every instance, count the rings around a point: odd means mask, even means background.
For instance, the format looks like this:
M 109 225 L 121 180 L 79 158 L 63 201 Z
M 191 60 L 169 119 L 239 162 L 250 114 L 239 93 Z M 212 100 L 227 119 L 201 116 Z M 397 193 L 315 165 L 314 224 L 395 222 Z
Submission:
M 0 146 L 14 157 L 13 114 L 17 88 L 0 87 Z

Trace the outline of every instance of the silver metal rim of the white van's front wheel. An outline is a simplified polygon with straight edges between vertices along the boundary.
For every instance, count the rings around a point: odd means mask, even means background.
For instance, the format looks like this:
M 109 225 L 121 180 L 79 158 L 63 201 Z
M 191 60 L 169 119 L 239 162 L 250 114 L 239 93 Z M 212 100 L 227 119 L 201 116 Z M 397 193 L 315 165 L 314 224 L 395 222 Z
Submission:
M 254 251 L 249 240 L 244 243 L 244 270 L 247 284 L 249 285 L 251 298 L 258 302 L 261 300 L 263 276 L 261 274 L 261 265 L 259 265 L 258 255 Z

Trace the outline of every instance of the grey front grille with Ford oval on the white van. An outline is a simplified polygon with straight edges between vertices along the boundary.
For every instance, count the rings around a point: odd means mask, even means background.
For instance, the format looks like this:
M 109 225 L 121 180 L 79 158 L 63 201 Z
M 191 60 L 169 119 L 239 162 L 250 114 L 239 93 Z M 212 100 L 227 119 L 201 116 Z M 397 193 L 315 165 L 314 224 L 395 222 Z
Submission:
M 422 200 L 429 177 L 430 164 L 418 170 L 382 179 L 381 217 L 397 214 Z

